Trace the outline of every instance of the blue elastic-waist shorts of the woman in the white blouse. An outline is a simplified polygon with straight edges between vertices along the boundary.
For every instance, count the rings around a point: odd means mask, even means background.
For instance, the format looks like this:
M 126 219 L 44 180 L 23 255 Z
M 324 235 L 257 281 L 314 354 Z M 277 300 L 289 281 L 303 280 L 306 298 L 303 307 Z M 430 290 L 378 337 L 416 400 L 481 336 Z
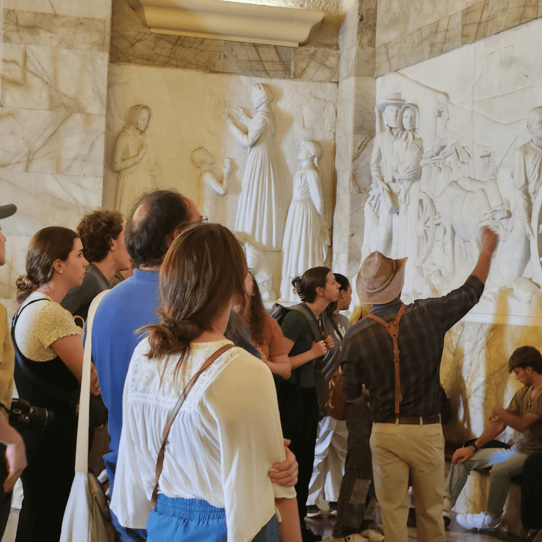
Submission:
M 248 513 L 248 511 L 247 511 Z M 224 508 L 199 499 L 172 499 L 158 495 L 147 520 L 147 542 L 227 542 Z M 271 518 L 253 542 L 279 542 L 279 522 Z

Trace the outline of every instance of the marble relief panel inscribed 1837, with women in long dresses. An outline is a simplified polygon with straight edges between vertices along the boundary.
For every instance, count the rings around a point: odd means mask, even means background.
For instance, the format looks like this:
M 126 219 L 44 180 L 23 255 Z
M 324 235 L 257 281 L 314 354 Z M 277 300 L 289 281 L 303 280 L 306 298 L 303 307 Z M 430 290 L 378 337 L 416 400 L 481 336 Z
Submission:
M 159 188 L 179 190 L 197 203 L 202 215 L 235 231 L 254 260 L 251 268 L 268 299 L 280 295 L 287 205 L 294 190 L 301 193 L 306 189 L 304 183 L 309 181 L 304 175 L 312 177 L 317 171 L 312 154 L 321 152 L 319 175 L 311 179 L 320 184 L 320 202 L 315 205 L 311 199 L 314 227 L 307 229 L 307 242 L 303 243 L 304 247 L 312 246 L 318 236 L 318 261 L 325 261 L 329 226 L 322 228 L 321 224 L 325 224 L 324 217 L 331 216 L 336 85 L 115 64 L 110 66 L 109 80 L 104 205 L 114 201 L 119 174 L 111 164 L 117 134 L 126 124 L 126 111 L 133 104 L 146 103 L 152 108 L 152 117 L 144 132 L 162 171 Z M 175 98 L 179 94 L 184 96 L 182 102 Z M 251 117 L 241 107 L 250 99 L 255 109 Z M 318 114 L 309 114 L 312 105 Z M 240 121 L 234 121 L 230 112 Z M 230 128 L 222 120 L 224 113 Z M 311 153 L 313 165 L 301 167 L 296 175 L 299 145 L 305 139 L 318 141 L 314 147 L 320 145 L 321 151 Z M 197 152 L 192 151 L 196 146 Z M 134 145 L 128 158 L 137 155 L 139 147 Z M 235 164 L 233 171 L 227 157 Z M 222 175 L 219 164 L 227 166 Z M 296 180 L 298 188 L 294 188 L 294 176 L 301 176 Z M 292 216 L 296 205 L 292 203 Z M 292 243 L 298 240 L 290 242 L 288 250 Z M 296 269 L 295 273 L 304 270 Z

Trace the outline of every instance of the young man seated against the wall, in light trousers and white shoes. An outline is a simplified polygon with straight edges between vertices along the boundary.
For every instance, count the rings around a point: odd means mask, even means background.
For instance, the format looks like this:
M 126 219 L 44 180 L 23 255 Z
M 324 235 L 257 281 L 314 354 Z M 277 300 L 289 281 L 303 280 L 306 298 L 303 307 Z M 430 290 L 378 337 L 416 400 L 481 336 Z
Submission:
M 508 361 L 508 371 L 524 386 L 512 398 L 508 408 L 495 408 L 489 425 L 470 446 L 456 450 L 444 492 L 444 522 L 450 522 L 455 505 L 471 470 L 492 467 L 489 474 L 489 496 L 486 512 L 459 514 L 457 522 L 467 529 L 491 529 L 499 525 L 510 479 L 521 474 L 523 464 L 535 451 L 542 451 L 542 356 L 532 346 L 515 349 Z M 506 426 L 519 431 L 512 448 L 484 448 Z

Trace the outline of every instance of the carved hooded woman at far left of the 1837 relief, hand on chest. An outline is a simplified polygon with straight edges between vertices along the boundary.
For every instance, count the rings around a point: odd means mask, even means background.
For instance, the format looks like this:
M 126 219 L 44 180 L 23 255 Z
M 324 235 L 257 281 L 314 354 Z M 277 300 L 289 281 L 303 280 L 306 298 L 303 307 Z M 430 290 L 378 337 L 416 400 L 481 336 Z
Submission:
M 128 122 L 117 135 L 111 169 L 119 173 L 115 209 L 127 215 L 135 199 L 162 185 L 162 171 L 154 158 L 147 138 L 151 108 L 134 105 L 128 111 Z

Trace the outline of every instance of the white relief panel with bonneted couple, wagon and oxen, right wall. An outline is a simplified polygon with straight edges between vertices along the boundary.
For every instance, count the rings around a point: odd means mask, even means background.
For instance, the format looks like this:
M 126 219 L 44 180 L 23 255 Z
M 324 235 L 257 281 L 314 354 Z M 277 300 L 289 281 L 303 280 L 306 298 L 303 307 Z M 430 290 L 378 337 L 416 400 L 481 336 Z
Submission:
M 533 46 L 542 44 L 540 27 L 537 21 L 523 30 L 525 46 L 508 44 L 517 43 L 516 29 L 378 80 L 377 95 L 400 92 L 412 104 L 412 119 L 418 117 L 415 106 L 420 109 L 419 136 L 407 130 L 405 139 L 382 107 L 385 128 L 375 138 L 365 207 L 363 257 L 379 248 L 409 256 L 406 300 L 459 286 L 474 268 L 480 231 L 488 224 L 499 232 L 499 246 L 486 292 L 467 318 L 516 324 L 540 319 L 542 57 L 532 55 Z M 515 73 L 518 66 L 528 77 Z M 388 164 L 391 180 L 384 183 Z M 402 168 L 417 179 L 401 179 Z M 390 192 L 398 196 L 397 209 Z M 387 215 L 379 207 L 383 194 Z

